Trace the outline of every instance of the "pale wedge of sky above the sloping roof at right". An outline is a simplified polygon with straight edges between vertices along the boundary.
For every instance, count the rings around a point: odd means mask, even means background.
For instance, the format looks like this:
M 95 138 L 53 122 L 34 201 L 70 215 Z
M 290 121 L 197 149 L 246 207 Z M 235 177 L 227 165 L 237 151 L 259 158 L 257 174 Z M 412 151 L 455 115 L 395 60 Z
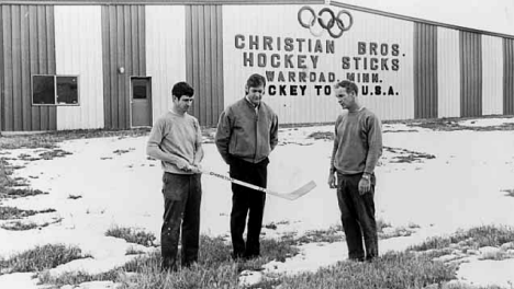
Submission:
M 514 35 L 514 0 L 338 0 L 337 2 Z

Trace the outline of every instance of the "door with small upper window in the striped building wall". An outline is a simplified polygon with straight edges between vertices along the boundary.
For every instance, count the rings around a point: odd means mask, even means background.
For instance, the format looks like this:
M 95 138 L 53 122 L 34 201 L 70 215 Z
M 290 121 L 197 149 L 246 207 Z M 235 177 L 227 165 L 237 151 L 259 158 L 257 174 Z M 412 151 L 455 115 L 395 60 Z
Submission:
M 131 78 L 132 127 L 152 126 L 152 79 Z

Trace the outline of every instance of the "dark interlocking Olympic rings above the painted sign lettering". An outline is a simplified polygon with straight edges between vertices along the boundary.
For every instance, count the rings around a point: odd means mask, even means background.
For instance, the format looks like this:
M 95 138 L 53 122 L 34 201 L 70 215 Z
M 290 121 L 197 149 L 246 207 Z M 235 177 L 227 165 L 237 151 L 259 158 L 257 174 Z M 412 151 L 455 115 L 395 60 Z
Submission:
M 311 14 L 311 19 L 309 20 L 308 23 L 303 22 L 302 20 L 302 13 L 304 11 L 308 11 Z M 324 13 L 328 13 L 328 15 L 331 16 L 331 19 L 326 23 L 323 20 Z M 343 19 L 340 18 L 343 14 L 346 14 L 348 16 L 349 19 L 348 25 L 345 25 L 345 23 L 343 22 Z M 316 20 L 320 26 L 322 27 L 321 33 L 313 32 L 313 26 L 316 24 Z M 314 12 L 314 9 L 305 5 L 305 7 L 302 7 L 298 11 L 298 22 L 300 23 L 302 27 L 309 28 L 311 31 L 311 34 L 313 34 L 314 36 L 321 36 L 323 31 L 326 30 L 333 38 L 339 38 L 345 31 L 348 31 L 351 27 L 351 25 L 354 25 L 354 18 L 346 10 L 342 10 L 337 13 L 337 15 L 335 15 L 334 11 L 332 11 L 329 8 L 323 8 L 322 10 L 320 10 L 320 12 L 316 15 L 316 13 Z M 337 33 L 333 31 L 336 24 L 337 24 L 336 28 L 339 30 L 339 32 Z

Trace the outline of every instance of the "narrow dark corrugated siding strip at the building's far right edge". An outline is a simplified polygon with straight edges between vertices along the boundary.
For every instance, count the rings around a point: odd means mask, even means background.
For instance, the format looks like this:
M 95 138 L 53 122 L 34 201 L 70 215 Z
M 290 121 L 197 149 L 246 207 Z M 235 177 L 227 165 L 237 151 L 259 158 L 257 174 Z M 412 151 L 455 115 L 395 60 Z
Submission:
M 503 114 L 514 114 L 514 39 L 503 39 Z

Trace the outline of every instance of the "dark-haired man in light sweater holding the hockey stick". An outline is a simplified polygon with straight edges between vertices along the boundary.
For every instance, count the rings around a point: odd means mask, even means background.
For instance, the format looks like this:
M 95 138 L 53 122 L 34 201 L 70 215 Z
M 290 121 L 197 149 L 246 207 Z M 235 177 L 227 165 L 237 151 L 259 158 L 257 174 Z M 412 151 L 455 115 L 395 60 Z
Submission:
M 188 114 L 194 90 L 178 82 L 171 90 L 172 107 L 152 128 L 146 153 L 161 161 L 164 222 L 160 231 L 163 269 L 177 269 L 177 253 L 182 229 L 181 265 L 198 261 L 200 203 L 202 197 L 200 161 L 203 158 L 200 125 Z

